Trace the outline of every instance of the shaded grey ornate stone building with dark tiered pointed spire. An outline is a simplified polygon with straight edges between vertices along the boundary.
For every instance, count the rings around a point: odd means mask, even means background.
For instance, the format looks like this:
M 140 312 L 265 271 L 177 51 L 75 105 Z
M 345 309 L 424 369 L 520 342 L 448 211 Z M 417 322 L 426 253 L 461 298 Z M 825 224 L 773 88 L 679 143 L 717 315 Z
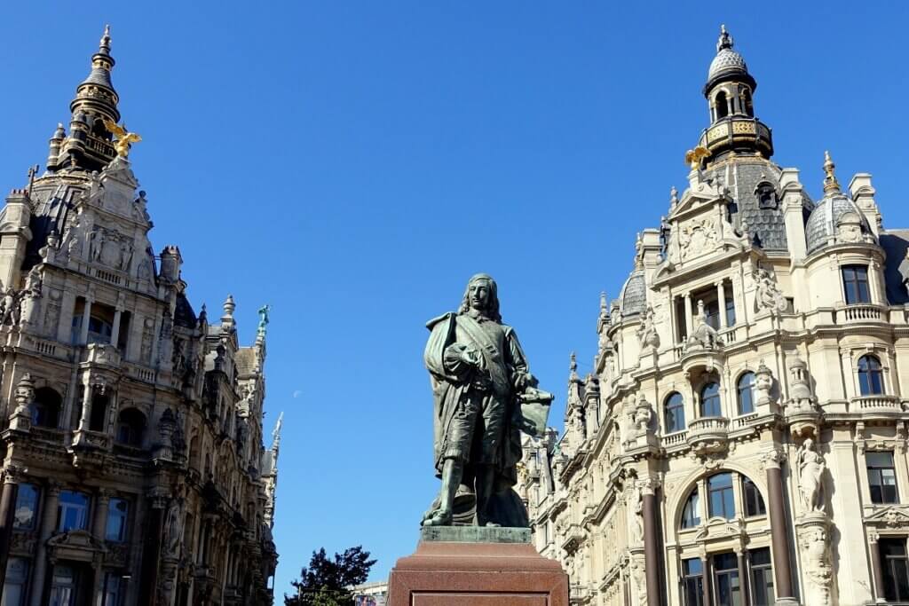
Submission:
M 3 604 L 270 604 L 268 310 L 241 347 L 233 298 L 208 323 L 155 257 L 110 43 L 0 213 Z

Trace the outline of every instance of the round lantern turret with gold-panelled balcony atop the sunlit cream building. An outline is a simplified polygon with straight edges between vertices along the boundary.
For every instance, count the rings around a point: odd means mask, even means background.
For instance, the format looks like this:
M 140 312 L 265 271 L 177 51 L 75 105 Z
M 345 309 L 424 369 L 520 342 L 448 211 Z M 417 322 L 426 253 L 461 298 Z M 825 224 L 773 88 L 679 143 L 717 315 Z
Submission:
M 733 46 L 733 36 L 721 25 L 716 56 L 704 84 L 710 126 L 701 135 L 700 145 L 710 152 L 712 160 L 730 152 L 769 158 L 774 154 L 770 129 L 754 117 L 757 82 Z

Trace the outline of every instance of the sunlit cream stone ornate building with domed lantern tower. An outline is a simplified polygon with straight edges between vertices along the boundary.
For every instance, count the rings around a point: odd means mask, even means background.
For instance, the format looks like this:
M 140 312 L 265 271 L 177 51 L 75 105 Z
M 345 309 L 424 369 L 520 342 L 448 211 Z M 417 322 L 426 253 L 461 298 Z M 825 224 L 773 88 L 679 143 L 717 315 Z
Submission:
M 564 435 L 526 442 L 537 547 L 575 604 L 909 601 L 909 232 L 870 174 L 843 188 L 828 154 L 812 199 L 774 164 L 716 49 L 688 186 L 601 300 Z

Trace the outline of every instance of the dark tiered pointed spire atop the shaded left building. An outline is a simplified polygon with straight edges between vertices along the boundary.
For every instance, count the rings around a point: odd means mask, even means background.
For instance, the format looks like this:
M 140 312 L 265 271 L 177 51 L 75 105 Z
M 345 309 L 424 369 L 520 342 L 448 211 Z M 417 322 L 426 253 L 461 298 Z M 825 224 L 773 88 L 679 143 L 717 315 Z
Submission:
M 61 136 L 63 129 L 58 128 L 51 139 L 47 169 L 52 172 L 100 171 L 116 157 L 113 135 L 104 124 L 105 120 L 120 122 L 120 97 L 111 83 L 115 61 L 110 33 L 110 25 L 106 25 L 98 52 L 92 55 L 92 70 L 75 89 L 75 98 L 69 104 L 69 134 Z

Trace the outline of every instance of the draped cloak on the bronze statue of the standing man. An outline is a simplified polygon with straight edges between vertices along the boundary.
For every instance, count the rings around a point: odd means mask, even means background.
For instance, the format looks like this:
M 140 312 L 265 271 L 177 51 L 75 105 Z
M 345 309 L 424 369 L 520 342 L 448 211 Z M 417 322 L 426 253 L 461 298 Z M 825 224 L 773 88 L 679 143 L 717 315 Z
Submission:
M 500 339 L 494 332 L 481 327 L 494 323 L 502 330 Z M 516 402 L 514 384 L 518 375 L 526 375 L 527 361 L 521 343 L 511 326 L 493 320 L 477 320 L 467 315 L 445 313 L 426 324 L 430 330 L 424 361 L 433 386 L 435 406 L 433 411 L 435 470 L 441 475 L 448 435 L 458 403 L 473 389 L 476 370 L 459 360 L 457 352 L 472 348 L 481 353 L 480 369 L 488 373 L 492 388 L 484 397 L 500 399 L 504 419 L 504 432 L 495 457 L 497 484 L 513 486 L 517 481 L 515 465 L 521 459 L 521 408 Z M 475 430 L 475 428 L 474 428 Z M 471 461 L 474 456 L 470 457 Z

